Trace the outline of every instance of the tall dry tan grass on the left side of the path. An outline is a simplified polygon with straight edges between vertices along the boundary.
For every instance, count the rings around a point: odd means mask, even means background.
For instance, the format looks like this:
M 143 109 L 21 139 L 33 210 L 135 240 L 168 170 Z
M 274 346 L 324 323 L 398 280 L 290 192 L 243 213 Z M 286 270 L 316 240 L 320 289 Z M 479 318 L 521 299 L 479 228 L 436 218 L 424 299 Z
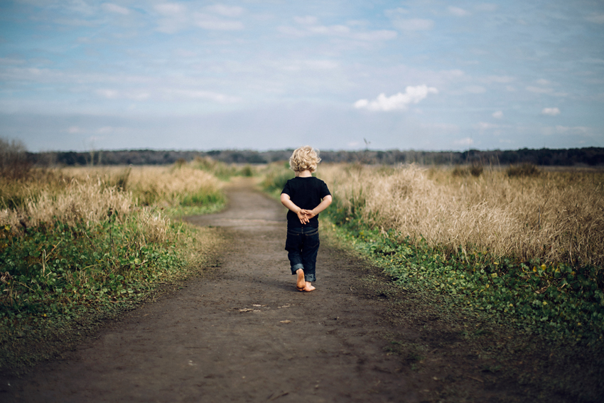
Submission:
M 45 181 L 49 175 L 55 180 Z M 13 233 L 55 220 L 90 225 L 108 215 L 119 220 L 136 215 L 146 237 L 157 241 L 165 240 L 169 225 L 161 208 L 221 197 L 220 182 L 211 173 L 188 166 L 61 168 L 0 186 L 0 226 L 8 225 Z

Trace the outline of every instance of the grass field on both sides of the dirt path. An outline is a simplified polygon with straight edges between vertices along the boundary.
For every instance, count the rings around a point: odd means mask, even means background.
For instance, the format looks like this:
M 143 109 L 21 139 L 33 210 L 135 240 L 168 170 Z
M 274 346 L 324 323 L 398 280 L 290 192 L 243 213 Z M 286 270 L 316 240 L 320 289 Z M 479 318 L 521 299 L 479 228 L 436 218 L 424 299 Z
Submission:
M 174 217 L 222 208 L 223 181 L 255 171 L 274 194 L 293 177 L 284 163 L 209 158 L 0 176 L 4 347 L 62 334 L 190 276 L 217 234 Z M 399 286 L 529 332 L 602 340 L 602 171 L 322 164 L 318 176 L 335 200 L 324 225 Z M 3 357 L 27 360 L 14 347 Z

